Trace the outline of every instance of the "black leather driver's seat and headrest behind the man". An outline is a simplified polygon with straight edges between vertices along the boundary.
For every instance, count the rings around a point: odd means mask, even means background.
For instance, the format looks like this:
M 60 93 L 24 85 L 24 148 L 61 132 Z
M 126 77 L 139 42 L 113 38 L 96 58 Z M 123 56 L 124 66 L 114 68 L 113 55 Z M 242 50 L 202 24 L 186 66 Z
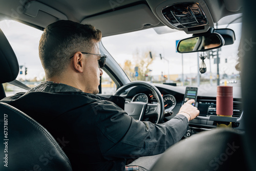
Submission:
M 0 99 L 5 97 L 2 83 L 13 81 L 18 71 L 15 53 L 0 29 Z M 0 170 L 72 170 L 68 157 L 51 134 L 5 103 L 0 103 L 0 138 Z

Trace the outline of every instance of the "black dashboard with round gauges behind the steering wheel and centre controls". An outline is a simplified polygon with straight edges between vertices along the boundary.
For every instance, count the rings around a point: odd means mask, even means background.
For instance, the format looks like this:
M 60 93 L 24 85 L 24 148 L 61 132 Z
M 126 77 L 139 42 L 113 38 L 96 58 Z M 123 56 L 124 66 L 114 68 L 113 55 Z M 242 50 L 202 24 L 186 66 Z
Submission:
M 161 92 L 164 100 L 165 112 L 173 111 L 173 115 L 165 115 L 163 122 L 172 119 L 179 112 L 184 99 L 186 87 L 175 87 L 165 84 L 154 84 Z M 212 130 L 217 127 L 218 121 L 214 120 L 212 116 L 216 116 L 216 95 L 217 88 L 203 88 L 198 87 L 198 97 L 195 106 L 200 111 L 200 114 L 195 119 L 189 121 L 189 129 L 185 137 L 189 137 L 205 130 Z M 126 103 L 129 102 L 145 102 L 149 104 L 157 104 L 158 101 L 152 92 L 144 87 L 131 88 L 125 94 Z M 233 116 L 236 122 L 232 122 L 232 127 L 243 131 L 244 125 L 243 110 L 241 102 L 241 90 L 239 87 L 233 87 Z M 143 121 L 152 121 L 152 118 L 143 118 Z

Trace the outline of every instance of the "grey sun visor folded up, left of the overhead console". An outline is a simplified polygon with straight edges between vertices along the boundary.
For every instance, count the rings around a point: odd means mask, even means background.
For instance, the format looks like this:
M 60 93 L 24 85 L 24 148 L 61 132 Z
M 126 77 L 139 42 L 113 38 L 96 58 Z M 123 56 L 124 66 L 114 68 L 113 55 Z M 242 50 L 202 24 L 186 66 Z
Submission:
M 156 26 L 160 22 L 148 6 L 140 4 L 85 18 L 81 24 L 91 24 L 101 30 L 103 36 L 109 36 Z

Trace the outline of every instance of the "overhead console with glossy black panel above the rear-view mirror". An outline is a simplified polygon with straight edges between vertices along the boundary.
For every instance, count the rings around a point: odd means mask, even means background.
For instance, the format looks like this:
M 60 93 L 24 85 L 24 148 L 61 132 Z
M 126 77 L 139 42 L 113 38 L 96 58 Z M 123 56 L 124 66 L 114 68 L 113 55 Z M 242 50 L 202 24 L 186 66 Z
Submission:
M 207 32 L 210 27 L 214 27 L 209 9 L 204 1 L 184 2 L 181 0 L 164 1 L 161 4 L 150 5 L 155 7 L 155 14 L 166 26 L 183 30 L 187 34 Z

